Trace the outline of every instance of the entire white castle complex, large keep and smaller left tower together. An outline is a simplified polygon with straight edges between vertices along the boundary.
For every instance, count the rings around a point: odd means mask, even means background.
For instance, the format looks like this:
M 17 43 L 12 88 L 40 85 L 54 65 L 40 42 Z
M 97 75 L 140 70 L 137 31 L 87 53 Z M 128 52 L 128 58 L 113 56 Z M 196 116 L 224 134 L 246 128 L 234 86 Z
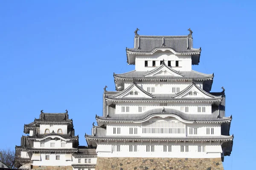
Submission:
M 16 167 L 35 170 L 223 170 L 230 156 L 232 116 L 225 89 L 211 92 L 213 74 L 192 70 L 201 48 L 192 31 L 148 36 L 135 31 L 126 48 L 134 71 L 113 74 L 116 91 L 103 93 L 87 146 L 79 146 L 66 113 L 44 113 L 24 125 Z M 220 88 L 221 89 L 221 88 Z

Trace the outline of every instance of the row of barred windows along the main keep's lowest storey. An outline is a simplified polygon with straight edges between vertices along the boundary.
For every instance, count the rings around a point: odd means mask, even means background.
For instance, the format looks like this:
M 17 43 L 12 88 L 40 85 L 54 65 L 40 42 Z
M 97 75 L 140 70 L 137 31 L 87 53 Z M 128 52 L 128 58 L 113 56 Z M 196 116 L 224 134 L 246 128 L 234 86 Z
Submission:
M 116 145 L 116 152 L 120 152 L 120 145 Z M 115 151 L 115 148 L 113 148 Z M 154 145 L 146 145 L 146 152 L 154 152 Z M 205 146 L 198 146 L 198 152 L 205 152 Z M 137 145 L 129 145 L 129 152 L 137 152 Z M 163 152 L 172 152 L 172 146 L 164 145 Z M 189 152 L 189 146 L 180 146 L 180 152 Z M 80 162 L 79 162 L 80 163 Z

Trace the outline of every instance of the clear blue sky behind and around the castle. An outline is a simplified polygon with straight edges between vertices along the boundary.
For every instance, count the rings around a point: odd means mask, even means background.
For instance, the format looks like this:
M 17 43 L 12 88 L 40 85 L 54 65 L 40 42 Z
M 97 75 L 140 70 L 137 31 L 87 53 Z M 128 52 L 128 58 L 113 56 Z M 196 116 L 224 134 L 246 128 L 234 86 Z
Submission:
M 0 2 L 0 148 L 20 145 L 23 125 L 47 113 L 69 111 L 80 145 L 102 93 L 115 90 L 113 72 L 126 63 L 134 31 L 186 35 L 202 48 L 193 69 L 214 73 L 212 91 L 226 89 L 226 115 L 233 115 L 231 156 L 225 170 L 250 169 L 255 161 L 255 1 Z

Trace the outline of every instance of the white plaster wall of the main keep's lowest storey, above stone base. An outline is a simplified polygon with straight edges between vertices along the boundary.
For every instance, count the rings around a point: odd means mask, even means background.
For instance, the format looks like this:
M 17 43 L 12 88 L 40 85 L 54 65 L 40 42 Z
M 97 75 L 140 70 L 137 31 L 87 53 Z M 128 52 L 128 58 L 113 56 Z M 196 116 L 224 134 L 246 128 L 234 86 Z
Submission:
M 111 152 L 98 152 L 99 157 L 152 157 L 152 158 L 220 158 L 221 153 L 206 153 L 198 152 L 198 145 L 218 150 L 220 147 L 218 142 L 113 142 L 110 141 L 112 147 L 115 147 Z M 120 152 L 115 151 L 116 145 L 120 145 Z M 129 152 L 129 145 L 137 145 L 137 152 Z M 146 152 L 146 145 L 154 145 L 154 152 Z M 163 152 L 163 145 L 171 145 L 172 152 Z M 180 152 L 180 145 L 189 146 L 189 152 Z M 150 148 L 151 149 L 151 148 Z

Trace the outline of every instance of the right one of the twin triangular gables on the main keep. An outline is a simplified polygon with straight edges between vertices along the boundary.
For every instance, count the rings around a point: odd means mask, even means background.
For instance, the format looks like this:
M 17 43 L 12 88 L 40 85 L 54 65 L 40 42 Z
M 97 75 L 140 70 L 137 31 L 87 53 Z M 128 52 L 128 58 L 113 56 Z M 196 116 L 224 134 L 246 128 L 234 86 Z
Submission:
M 195 82 L 192 82 L 187 88 L 179 93 L 175 94 L 174 98 L 183 98 L 183 97 L 194 97 L 194 98 L 206 98 L 206 99 L 215 99 L 221 98 L 221 96 L 213 96 L 203 89 L 199 88 Z

